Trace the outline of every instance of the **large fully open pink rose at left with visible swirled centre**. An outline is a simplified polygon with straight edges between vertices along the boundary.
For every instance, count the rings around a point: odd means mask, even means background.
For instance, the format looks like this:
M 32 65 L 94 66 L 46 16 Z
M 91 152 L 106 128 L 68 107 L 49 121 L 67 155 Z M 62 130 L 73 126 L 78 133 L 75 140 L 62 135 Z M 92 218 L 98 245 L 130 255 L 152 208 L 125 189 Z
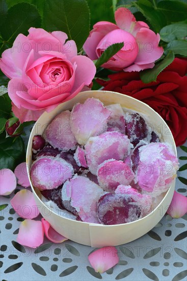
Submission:
M 12 110 L 21 122 L 37 120 L 92 82 L 94 63 L 77 56 L 75 42 L 67 38 L 62 31 L 30 28 L 28 36 L 19 34 L 2 54 L 1 69 L 11 79 Z

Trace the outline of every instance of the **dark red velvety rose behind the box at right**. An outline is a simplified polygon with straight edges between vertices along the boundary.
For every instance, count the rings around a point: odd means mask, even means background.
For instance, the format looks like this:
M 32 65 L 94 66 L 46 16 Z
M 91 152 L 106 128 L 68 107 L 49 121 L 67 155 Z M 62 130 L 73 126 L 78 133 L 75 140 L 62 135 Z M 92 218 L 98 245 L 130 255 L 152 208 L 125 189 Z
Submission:
M 152 107 L 170 127 L 176 146 L 180 146 L 187 137 L 186 72 L 187 60 L 175 58 L 156 82 L 143 83 L 138 72 L 119 72 L 109 75 L 109 81 L 97 79 L 97 82 L 104 90 L 124 93 Z

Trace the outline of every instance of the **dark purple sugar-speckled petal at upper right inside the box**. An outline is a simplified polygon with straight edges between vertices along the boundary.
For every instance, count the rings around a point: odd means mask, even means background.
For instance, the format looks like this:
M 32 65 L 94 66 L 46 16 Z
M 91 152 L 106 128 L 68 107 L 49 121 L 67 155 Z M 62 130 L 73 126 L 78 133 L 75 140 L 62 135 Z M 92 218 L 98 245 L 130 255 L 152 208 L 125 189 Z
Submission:
M 145 120 L 138 113 L 128 115 L 128 118 L 126 118 L 125 128 L 126 135 L 134 146 L 136 146 L 141 139 L 147 137 L 147 125 Z

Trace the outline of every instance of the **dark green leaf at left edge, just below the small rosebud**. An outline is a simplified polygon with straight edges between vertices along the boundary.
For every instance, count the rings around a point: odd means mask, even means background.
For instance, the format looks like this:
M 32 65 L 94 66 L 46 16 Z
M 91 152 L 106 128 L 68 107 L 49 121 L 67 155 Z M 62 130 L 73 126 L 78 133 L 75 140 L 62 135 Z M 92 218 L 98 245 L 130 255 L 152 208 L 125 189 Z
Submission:
M 5 133 L 0 135 L 0 169 L 8 168 L 14 171 L 24 157 L 24 143 L 20 136 L 5 138 Z

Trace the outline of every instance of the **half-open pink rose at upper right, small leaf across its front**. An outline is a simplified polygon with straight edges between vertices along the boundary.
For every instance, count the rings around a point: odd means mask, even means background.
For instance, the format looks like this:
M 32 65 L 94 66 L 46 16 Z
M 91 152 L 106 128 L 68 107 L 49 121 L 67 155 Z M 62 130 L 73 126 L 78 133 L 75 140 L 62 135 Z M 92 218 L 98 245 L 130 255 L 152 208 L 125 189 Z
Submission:
M 109 45 L 124 42 L 123 48 L 102 67 L 114 71 L 141 71 L 152 68 L 164 50 L 158 46 L 160 37 L 149 29 L 143 21 L 125 8 L 115 12 L 116 25 L 109 21 L 99 21 L 93 26 L 83 48 L 89 58 L 98 59 Z

